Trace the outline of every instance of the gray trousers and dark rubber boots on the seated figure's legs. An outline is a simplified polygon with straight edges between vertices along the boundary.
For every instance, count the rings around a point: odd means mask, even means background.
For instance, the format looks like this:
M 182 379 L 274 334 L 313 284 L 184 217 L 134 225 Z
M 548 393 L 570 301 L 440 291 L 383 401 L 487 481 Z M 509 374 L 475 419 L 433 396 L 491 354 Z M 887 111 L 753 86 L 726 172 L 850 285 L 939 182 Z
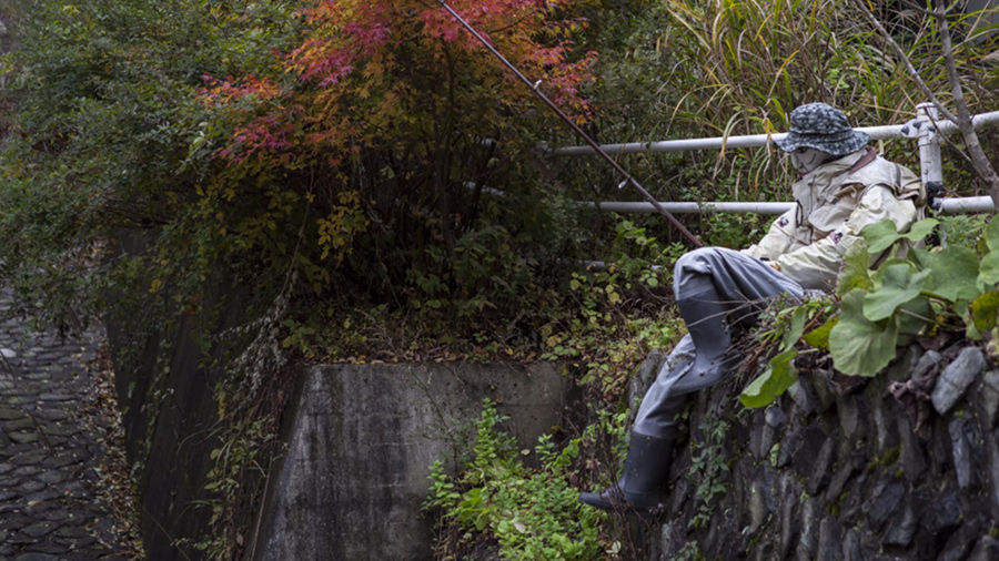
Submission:
M 604 510 L 615 504 L 656 508 L 673 457 L 676 417 L 687 397 L 714 386 L 729 371 L 729 322 L 751 323 L 770 298 L 801 297 L 804 288 L 766 263 L 724 247 L 687 253 L 674 266 L 673 292 L 688 334 L 666 357 L 645 394 L 632 428 L 620 480 L 579 501 Z

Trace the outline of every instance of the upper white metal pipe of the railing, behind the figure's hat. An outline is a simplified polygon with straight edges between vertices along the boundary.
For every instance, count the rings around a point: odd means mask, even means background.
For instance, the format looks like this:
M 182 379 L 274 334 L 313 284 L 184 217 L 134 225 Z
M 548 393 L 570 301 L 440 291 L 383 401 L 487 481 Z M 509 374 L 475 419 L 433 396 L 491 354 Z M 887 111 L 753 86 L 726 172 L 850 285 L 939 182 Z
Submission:
M 975 115 L 971 120 L 972 125 L 976 129 L 980 129 L 987 124 L 999 123 L 999 111 L 992 111 L 990 113 L 982 113 L 979 115 Z M 937 123 L 939 125 L 940 133 L 942 134 L 951 134 L 958 130 L 957 125 L 950 121 L 939 121 Z M 872 140 L 884 140 L 884 139 L 898 139 L 902 137 L 901 133 L 902 124 L 889 124 L 889 125 L 880 125 L 880 126 L 860 126 L 857 130 L 864 131 Z M 629 142 L 625 144 L 602 144 L 601 147 L 604 149 L 610 155 L 614 154 L 635 154 L 639 152 L 683 152 L 687 150 L 722 150 L 725 149 L 740 149 L 740 147 L 757 147 L 757 146 L 766 146 L 776 140 L 781 140 L 787 136 L 787 133 L 774 133 L 774 134 L 747 134 L 741 136 L 715 136 L 710 139 L 689 139 L 689 140 L 670 140 L 670 141 L 657 141 L 657 142 Z M 552 154 L 556 156 L 577 156 L 577 155 L 587 155 L 595 154 L 594 150 L 589 146 L 564 146 L 552 150 Z

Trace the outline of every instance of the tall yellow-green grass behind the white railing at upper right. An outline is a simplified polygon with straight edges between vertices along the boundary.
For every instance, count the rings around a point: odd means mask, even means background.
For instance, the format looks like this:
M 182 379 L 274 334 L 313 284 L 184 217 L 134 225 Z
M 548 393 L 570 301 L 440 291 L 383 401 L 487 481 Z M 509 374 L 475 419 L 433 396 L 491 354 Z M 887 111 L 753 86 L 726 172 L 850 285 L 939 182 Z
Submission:
M 937 27 L 919 10 L 899 8 L 905 4 L 879 0 L 870 6 L 922 79 L 948 102 Z M 659 9 L 665 24 L 658 48 L 668 53 L 659 92 L 672 137 L 783 131 L 790 110 L 813 101 L 841 108 L 858 125 L 900 123 L 925 101 L 904 60 L 850 2 L 663 0 Z M 999 64 L 989 62 L 999 57 L 999 33 L 988 24 L 997 10 L 951 18 L 958 69 L 973 112 L 999 110 Z M 911 155 L 905 143 L 882 149 L 904 161 Z M 738 157 L 723 153 L 713 178 L 728 177 L 729 192 L 714 195 L 760 196 L 767 185 L 789 178 L 778 163 L 766 151 Z

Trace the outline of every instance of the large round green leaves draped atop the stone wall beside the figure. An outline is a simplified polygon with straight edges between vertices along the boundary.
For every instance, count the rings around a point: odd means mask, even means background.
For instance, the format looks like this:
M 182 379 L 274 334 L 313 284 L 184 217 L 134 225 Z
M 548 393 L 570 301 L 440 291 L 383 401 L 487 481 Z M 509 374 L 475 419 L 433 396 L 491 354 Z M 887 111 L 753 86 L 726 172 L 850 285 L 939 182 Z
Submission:
M 743 404 L 766 406 L 797 380 L 799 340 L 828 350 L 838 371 L 870 377 L 917 336 L 950 329 L 971 340 L 999 338 L 999 222 L 989 222 L 972 247 L 912 247 L 869 268 L 872 256 L 895 255 L 897 244 L 918 244 L 939 225 L 927 218 L 899 233 L 886 220 L 865 227 L 865 243 L 850 248 L 839 277 L 838 314 L 806 333 L 815 304 L 785 310 L 778 353 L 739 396 Z

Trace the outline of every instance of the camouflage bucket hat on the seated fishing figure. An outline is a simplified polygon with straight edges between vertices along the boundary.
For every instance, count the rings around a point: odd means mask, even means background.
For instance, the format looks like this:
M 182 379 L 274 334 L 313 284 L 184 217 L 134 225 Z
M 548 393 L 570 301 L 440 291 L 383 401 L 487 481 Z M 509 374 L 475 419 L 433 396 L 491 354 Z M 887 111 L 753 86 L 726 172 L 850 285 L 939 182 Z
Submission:
M 845 156 L 870 142 L 867 133 L 855 131 L 846 114 L 826 103 L 800 105 L 790 114 L 790 132 L 774 141 L 780 150 L 794 152 L 799 147 L 821 150 L 834 156 Z

